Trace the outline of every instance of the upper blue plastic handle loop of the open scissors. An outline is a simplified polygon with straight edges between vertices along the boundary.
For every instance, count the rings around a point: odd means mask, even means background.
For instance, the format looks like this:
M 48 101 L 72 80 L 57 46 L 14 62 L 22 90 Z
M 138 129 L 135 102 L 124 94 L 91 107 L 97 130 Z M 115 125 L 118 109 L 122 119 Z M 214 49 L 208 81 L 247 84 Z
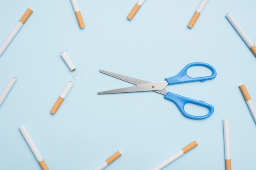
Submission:
M 200 66 L 209 68 L 212 71 L 211 76 L 195 77 L 195 78 L 188 76 L 187 70 L 190 67 L 195 66 L 195 65 L 200 65 Z M 186 83 L 186 82 L 190 82 L 190 81 L 206 81 L 206 80 L 215 78 L 216 75 L 217 75 L 216 70 L 210 64 L 196 62 L 196 63 L 189 63 L 180 71 L 179 74 L 177 74 L 176 76 L 173 76 L 173 77 L 166 78 L 165 80 L 170 85 L 170 84 L 177 84 L 177 83 Z

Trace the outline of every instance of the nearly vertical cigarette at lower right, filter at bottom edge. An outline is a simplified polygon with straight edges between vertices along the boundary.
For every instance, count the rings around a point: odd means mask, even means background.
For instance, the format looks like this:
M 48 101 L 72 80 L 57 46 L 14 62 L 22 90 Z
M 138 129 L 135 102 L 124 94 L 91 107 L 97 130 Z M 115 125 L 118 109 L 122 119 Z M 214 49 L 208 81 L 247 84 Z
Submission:
M 231 170 L 229 119 L 223 119 L 226 170 Z

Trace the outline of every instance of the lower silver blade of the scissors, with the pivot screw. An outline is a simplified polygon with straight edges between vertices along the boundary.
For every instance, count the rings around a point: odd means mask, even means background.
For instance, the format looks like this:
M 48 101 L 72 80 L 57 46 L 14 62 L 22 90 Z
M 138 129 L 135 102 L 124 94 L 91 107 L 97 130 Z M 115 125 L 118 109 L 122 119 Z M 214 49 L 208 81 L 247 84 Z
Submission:
M 168 85 L 167 81 L 161 81 L 161 82 L 156 82 L 156 83 L 147 83 L 147 84 L 143 84 L 143 85 L 136 85 L 136 86 L 132 86 L 132 87 L 98 92 L 98 94 L 145 92 L 145 91 L 163 90 L 164 87 L 166 87 L 166 85 Z

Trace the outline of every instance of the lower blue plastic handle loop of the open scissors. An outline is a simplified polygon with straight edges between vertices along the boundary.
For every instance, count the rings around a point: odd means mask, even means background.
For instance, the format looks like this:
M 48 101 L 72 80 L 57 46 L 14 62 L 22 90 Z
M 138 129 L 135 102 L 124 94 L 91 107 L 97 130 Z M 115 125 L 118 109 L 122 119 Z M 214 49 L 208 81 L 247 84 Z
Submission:
M 171 92 L 167 92 L 166 95 L 164 95 L 164 98 L 173 101 L 177 105 L 177 107 L 180 109 L 181 113 L 184 116 L 186 116 L 187 118 L 205 119 L 205 118 L 208 118 L 209 116 L 211 116 L 211 114 L 214 111 L 214 107 L 210 104 L 207 104 L 203 101 L 193 100 L 191 98 L 180 96 L 180 95 L 177 95 L 177 94 L 174 94 L 174 93 L 171 93 Z M 192 103 L 192 104 L 195 104 L 195 105 L 200 105 L 202 107 L 206 107 L 207 109 L 209 109 L 209 113 L 207 113 L 204 116 L 194 116 L 194 115 L 191 115 L 189 113 L 186 113 L 186 111 L 184 110 L 184 106 L 187 103 Z

